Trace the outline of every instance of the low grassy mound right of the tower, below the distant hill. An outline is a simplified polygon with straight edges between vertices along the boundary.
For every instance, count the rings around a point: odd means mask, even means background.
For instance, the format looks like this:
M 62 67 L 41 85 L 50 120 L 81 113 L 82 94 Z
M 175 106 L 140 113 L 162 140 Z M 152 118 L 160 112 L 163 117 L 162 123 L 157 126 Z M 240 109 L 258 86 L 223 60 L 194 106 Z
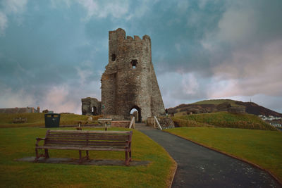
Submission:
M 233 127 L 251 130 L 276 130 L 257 115 L 248 113 L 200 113 L 172 118 L 180 127 Z

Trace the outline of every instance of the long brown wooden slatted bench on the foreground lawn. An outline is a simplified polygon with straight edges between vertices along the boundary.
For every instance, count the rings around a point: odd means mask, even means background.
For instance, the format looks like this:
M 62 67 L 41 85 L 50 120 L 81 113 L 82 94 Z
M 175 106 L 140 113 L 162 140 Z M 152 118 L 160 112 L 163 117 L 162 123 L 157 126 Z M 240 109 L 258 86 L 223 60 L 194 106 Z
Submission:
M 45 138 L 36 138 L 35 162 L 40 157 L 49 158 L 48 149 L 78 150 L 80 163 L 86 158 L 89 160 L 88 151 L 125 151 L 125 165 L 131 161 L 132 131 L 90 131 L 90 130 L 47 130 Z M 40 141 L 44 141 L 39 146 Z M 44 154 L 38 153 L 44 149 Z M 82 158 L 81 151 L 86 151 Z

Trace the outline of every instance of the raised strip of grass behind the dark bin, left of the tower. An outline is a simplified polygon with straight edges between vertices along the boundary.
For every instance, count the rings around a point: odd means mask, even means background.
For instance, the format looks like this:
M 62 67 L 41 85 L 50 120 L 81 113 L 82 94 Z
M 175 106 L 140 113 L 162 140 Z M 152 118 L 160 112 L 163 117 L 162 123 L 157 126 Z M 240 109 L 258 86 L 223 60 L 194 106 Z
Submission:
M 61 114 L 60 125 L 77 125 L 78 120 L 87 120 L 87 115 Z M 99 117 L 92 116 L 94 119 Z M 14 118 L 27 118 L 27 123 L 13 123 Z M 0 127 L 44 126 L 44 113 L 0 113 Z

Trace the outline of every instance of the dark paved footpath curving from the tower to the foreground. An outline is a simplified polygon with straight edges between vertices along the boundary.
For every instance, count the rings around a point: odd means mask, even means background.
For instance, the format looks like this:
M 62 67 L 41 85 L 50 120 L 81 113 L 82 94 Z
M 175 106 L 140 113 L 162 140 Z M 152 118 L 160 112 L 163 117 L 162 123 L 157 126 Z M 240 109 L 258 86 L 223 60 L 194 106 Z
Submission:
M 178 163 L 172 187 L 281 187 L 268 173 L 161 130 L 142 130 Z

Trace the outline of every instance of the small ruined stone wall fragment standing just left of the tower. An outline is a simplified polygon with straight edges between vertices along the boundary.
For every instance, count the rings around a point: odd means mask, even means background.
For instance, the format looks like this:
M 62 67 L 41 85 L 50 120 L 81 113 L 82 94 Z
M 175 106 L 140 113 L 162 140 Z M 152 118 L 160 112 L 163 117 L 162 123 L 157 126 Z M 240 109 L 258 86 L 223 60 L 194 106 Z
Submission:
M 81 99 L 82 102 L 82 115 L 100 115 L 101 114 L 101 102 L 95 98 L 87 97 Z

